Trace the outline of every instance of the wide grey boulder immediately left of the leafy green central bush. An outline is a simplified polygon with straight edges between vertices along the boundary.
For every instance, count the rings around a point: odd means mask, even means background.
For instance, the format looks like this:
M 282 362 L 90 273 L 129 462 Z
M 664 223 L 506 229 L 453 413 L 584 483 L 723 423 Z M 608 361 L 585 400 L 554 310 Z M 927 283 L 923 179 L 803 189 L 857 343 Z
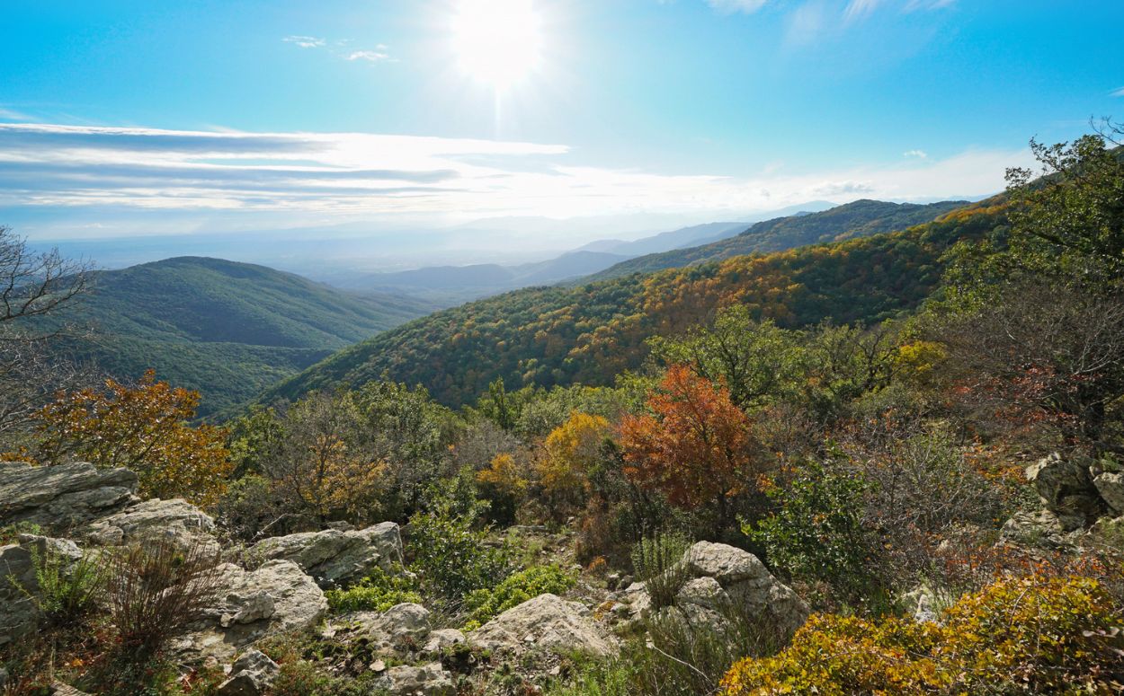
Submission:
M 251 553 L 291 560 L 329 589 L 352 585 L 375 568 L 400 568 L 402 539 L 396 523 L 383 522 L 357 531 L 328 529 L 274 537 L 254 544 Z

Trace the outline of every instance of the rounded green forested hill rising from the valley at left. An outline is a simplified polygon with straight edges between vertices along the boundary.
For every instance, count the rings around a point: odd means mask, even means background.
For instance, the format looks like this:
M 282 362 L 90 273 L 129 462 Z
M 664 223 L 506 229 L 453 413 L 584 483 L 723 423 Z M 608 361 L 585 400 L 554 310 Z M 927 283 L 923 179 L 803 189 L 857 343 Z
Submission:
M 343 293 L 290 273 L 179 257 L 97 272 L 70 318 L 91 326 L 72 346 L 120 378 L 154 368 L 199 390 L 201 415 L 250 401 L 333 351 L 432 311 L 399 295 Z

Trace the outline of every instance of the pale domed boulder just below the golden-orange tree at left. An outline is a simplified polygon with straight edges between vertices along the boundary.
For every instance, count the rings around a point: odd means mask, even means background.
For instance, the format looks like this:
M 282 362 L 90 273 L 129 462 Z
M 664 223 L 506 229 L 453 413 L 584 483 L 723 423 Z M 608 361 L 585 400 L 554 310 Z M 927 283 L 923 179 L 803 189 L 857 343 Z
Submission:
M 202 547 L 217 553 L 220 547 L 214 531 L 215 520 L 187 501 L 153 498 L 98 520 L 83 535 L 101 546 L 162 538 L 181 549 Z

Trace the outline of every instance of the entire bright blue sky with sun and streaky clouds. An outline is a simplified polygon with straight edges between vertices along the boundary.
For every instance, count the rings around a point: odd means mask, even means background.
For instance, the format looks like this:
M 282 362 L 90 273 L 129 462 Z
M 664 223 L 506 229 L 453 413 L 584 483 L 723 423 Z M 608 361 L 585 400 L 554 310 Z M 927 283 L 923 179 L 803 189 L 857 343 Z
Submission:
M 1031 137 L 1124 116 L 1122 26 L 1120 0 L 4 0 L 0 225 L 610 236 L 982 196 Z

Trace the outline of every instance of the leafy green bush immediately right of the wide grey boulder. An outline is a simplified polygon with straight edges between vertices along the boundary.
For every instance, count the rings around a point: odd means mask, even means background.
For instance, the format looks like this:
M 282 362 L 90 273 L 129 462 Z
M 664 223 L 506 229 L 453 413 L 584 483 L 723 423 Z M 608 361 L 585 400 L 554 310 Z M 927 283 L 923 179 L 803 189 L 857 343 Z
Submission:
M 489 546 L 488 530 L 480 525 L 486 510 L 471 480 L 459 477 L 434 491 L 428 510 L 410 518 L 410 569 L 428 593 L 460 602 L 511 573 L 510 549 Z

